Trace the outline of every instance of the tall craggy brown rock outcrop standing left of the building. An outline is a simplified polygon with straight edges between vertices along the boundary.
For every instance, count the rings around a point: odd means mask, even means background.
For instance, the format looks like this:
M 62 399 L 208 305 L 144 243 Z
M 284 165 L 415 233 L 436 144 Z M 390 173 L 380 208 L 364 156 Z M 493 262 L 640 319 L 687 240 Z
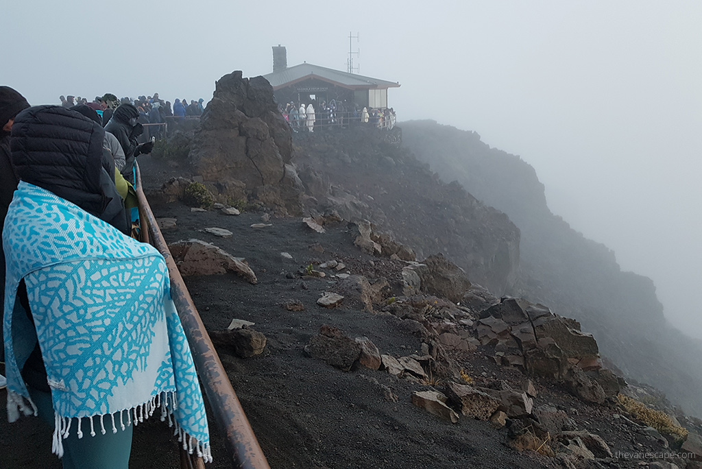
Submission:
M 263 77 L 232 72 L 219 79 L 191 148 L 194 174 L 221 198 L 259 199 L 299 212 L 291 130 Z

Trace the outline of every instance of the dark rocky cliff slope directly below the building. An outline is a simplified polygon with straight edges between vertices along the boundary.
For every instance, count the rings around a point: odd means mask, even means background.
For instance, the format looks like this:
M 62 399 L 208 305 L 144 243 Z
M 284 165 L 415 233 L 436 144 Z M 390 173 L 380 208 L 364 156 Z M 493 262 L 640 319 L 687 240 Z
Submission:
M 293 162 L 312 215 L 334 210 L 367 218 L 416 251 L 443 253 L 472 282 L 498 294 L 511 289 L 519 264 L 519 230 L 456 183 L 446 184 L 373 128 L 296 134 Z

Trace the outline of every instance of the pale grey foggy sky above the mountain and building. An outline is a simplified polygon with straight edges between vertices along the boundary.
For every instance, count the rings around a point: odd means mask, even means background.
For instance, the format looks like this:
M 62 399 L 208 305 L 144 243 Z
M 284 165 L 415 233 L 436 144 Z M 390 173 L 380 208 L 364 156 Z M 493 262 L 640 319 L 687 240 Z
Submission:
M 106 92 L 209 100 L 271 46 L 399 81 L 399 121 L 435 119 L 536 168 L 550 209 L 654 279 L 673 324 L 702 336 L 702 2 L 14 1 L 0 84 L 30 103 Z

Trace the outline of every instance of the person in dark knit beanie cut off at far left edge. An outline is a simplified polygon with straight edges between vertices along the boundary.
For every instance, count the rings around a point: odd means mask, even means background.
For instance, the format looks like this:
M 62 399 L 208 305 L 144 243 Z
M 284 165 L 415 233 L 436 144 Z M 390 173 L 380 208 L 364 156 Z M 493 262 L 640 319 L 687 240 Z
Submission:
M 27 103 L 24 96 L 9 86 L 0 86 L 0 236 L 2 235 L 7 209 L 12 202 L 13 194 L 19 183 L 10 159 L 10 133 L 15 123 L 15 117 L 27 107 L 29 107 L 29 103 Z M 5 253 L 0 244 L 0 308 L 4 305 L 4 300 Z M 0 343 L 3 342 L 2 331 L 3 326 L 0 321 Z M 0 350 L 0 361 L 4 361 L 4 357 L 5 351 L 2 348 Z M 0 389 L 4 388 L 6 383 L 5 377 L 0 375 Z

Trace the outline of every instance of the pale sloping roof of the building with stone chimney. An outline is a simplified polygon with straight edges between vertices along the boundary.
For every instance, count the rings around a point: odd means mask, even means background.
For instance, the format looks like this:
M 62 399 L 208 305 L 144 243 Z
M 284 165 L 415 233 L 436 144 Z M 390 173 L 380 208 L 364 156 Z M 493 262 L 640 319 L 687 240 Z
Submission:
M 311 63 L 301 63 L 294 67 L 288 67 L 279 72 L 263 75 L 273 86 L 274 91 L 295 84 L 309 78 L 317 78 L 322 81 L 329 81 L 333 84 L 350 89 L 373 89 L 373 88 L 399 88 L 399 83 L 395 81 L 385 81 L 377 78 L 364 77 L 355 73 L 340 72 L 331 68 L 312 65 Z

